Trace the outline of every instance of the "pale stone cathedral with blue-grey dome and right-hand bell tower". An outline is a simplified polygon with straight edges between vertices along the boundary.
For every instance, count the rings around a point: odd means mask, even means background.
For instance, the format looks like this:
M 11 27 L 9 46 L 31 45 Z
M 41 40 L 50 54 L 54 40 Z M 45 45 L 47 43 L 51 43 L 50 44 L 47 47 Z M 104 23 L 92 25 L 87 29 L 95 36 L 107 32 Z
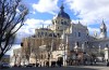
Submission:
M 66 66 L 76 64 L 76 60 L 83 64 L 85 59 L 87 61 L 109 59 L 109 38 L 104 20 L 99 27 L 100 34 L 94 32 L 94 36 L 90 36 L 87 26 L 82 25 L 81 22 L 77 24 L 71 22 L 62 4 L 51 22 L 52 24 L 47 28 L 35 29 L 35 36 L 23 39 L 23 48 L 27 47 L 27 42 L 33 47 L 31 64 L 38 62 L 45 66 L 47 61 L 51 65 L 60 60 L 63 66 Z M 37 59 L 34 58 L 35 55 Z

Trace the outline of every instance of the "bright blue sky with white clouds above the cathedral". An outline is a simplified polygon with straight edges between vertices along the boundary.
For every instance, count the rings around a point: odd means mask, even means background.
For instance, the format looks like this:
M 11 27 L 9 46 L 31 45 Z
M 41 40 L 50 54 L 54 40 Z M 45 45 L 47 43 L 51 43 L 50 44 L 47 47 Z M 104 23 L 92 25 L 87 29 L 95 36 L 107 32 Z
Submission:
M 88 27 L 89 33 L 97 31 L 102 19 L 109 32 L 109 0 L 23 0 L 29 10 L 24 22 L 24 26 L 17 31 L 15 44 L 22 42 L 22 38 L 29 37 L 35 33 L 35 29 L 47 27 L 51 24 L 51 19 L 59 13 L 63 2 L 64 12 L 71 17 L 72 23 L 81 24 Z M 109 33 L 108 33 L 109 36 Z

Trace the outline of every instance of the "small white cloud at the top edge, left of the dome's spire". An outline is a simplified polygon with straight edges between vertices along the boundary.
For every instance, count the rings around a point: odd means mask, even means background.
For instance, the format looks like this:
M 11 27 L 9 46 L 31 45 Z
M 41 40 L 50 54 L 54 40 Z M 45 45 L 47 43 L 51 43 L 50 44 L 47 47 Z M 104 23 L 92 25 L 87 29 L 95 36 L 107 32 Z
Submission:
M 38 3 L 33 4 L 33 9 L 40 13 L 56 14 L 59 10 L 58 0 L 39 0 Z

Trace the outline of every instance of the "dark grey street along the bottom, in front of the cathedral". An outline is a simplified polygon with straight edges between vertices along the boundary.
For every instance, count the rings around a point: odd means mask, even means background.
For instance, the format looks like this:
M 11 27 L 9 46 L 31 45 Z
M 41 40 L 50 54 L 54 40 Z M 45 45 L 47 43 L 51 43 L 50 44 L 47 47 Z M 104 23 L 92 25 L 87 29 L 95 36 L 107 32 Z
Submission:
M 37 68 L 10 68 L 1 70 L 109 70 L 106 66 L 71 66 L 71 67 L 37 67 Z

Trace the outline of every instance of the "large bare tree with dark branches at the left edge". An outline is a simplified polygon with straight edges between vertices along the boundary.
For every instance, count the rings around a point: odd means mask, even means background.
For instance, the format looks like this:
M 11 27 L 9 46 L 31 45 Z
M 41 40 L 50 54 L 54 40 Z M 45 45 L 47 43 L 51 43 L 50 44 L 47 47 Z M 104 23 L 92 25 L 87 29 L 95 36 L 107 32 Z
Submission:
M 0 59 L 12 47 L 27 13 L 21 0 L 0 0 Z

